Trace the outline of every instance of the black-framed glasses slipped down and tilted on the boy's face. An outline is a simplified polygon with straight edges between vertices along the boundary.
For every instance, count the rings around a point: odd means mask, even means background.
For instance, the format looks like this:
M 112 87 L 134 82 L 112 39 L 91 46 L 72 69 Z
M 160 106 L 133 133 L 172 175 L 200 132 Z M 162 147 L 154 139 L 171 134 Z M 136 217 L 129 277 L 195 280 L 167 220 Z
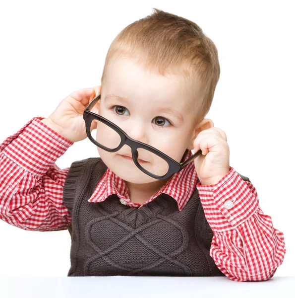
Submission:
M 166 155 L 165 153 L 161 152 L 160 150 L 149 146 L 147 144 L 144 144 L 142 142 L 136 141 L 134 139 L 131 139 L 121 128 L 119 128 L 115 123 L 109 121 L 108 119 L 95 114 L 93 112 L 90 112 L 90 110 L 93 108 L 93 106 L 97 103 L 98 100 L 100 100 L 101 98 L 101 94 L 98 94 L 91 102 L 90 104 L 87 106 L 87 108 L 84 111 L 83 114 L 83 119 L 85 121 L 86 124 L 86 133 L 87 133 L 87 137 L 90 139 L 90 141 L 95 144 L 96 146 L 108 151 L 108 152 L 116 152 L 119 149 L 121 149 L 125 144 L 128 145 L 131 148 L 132 151 L 132 159 L 134 161 L 134 163 L 136 164 L 136 166 L 143 171 L 145 174 L 159 179 L 159 180 L 164 180 L 168 177 L 170 177 L 172 174 L 178 173 L 179 171 L 181 171 L 186 165 L 188 165 L 191 161 L 193 161 L 198 155 L 200 155 L 202 153 L 202 150 L 198 150 L 196 153 L 194 153 L 192 156 L 190 156 L 187 160 L 185 160 L 184 162 L 180 162 L 178 163 L 176 160 L 174 160 L 173 158 L 169 157 L 168 155 Z M 104 146 L 101 143 L 98 143 L 93 136 L 91 135 L 91 123 L 92 121 L 100 121 L 101 123 L 104 123 L 104 127 L 108 127 L 108 129 L 110 130 L 110 132 L 116 132 L 116 136 L 118 136 L 118 142 L 116 143 L 116 145 L 112 147 L 115 148 L 109 148 L 111 146 Z M 114 137 L 112 138 L 112 135 L 109 134 L 109 139 L 114 142 Z M 141 160 L 138 159 L 138 149 L 142 151 L 140 152 L 146 152 L 150 151 L 152 152 L 153 156 L 157 156 L 157 158 L 161 158 L 161 161 L 165 161 L 167 164 L 167 167 L 165 167 L 163 169 L 163 171 L 161 172 L 163 175 L 156 175 L 155 173 L 153 173 L 153 167 L 152 169 L 150 169 L 151 163 L 145 160 Z M 187 152 L 188 149 L 186 149 L 185 153 Z M 183 160 L 185 154 L 183 154 L 183 157 L 181 159 L 181 161 Z M 142 156 L 140 156 L 142 158 Z

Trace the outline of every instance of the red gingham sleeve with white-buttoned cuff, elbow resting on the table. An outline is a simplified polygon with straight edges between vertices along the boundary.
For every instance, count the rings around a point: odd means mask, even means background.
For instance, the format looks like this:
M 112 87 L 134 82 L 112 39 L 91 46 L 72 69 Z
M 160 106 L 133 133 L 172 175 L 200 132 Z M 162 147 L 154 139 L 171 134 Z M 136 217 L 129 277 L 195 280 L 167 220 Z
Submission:
M 217 184 L 196 185 L 213 231 L 210 256 L 231 280 L 269 280 L 286 253 L 284 235 L 260 209 L 250 180 L 242 177 L 230 166 Z

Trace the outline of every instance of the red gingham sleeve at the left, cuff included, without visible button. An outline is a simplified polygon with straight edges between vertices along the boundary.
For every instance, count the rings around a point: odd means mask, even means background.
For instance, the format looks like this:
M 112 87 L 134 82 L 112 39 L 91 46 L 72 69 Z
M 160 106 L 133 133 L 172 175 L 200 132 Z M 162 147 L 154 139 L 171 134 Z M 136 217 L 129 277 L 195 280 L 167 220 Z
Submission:
M 55 161 L 73 142 L 34 117 L 0 144 L 0 219 L 25 230 L 67 229 L 62 192 L 69 168 Z

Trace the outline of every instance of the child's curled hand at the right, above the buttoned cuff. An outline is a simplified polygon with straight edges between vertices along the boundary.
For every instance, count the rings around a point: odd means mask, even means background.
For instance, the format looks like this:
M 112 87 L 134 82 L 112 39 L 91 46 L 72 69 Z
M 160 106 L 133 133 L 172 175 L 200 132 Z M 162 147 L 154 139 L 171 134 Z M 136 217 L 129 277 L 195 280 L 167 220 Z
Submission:
M 217 127 L 201 131 L 193 142 L 194 152 L 202 154 L 194 159 L 202 185 L 216 184 L 230 171 L 230 148 L 227 135 Z

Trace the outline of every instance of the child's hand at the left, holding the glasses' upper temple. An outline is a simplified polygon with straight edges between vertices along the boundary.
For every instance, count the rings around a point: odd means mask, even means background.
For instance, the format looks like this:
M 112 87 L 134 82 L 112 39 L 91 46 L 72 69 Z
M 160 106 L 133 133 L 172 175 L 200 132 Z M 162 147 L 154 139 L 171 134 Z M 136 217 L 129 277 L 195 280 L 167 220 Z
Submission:
M 55 132 L 71 142 L 82 141 L 87 138 L 83 113 L 91 100 L 100 93 L 101 86 L 83 88 L 65 97 L 47 118 L 41 120 Z M 91 109 L 98 114 L 99 101 Z M 91 131 L 95 128 L 91 125 Z

